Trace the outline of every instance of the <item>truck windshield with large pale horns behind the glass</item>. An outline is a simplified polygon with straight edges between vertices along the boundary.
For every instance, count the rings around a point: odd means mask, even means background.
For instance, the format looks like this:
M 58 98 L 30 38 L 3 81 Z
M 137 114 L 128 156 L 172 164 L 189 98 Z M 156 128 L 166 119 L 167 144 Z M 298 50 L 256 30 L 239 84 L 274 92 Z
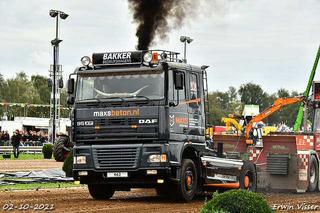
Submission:
M 123 71 L 79 74 L 75 101 L 112 97 L 164 98 L 164 71 Z

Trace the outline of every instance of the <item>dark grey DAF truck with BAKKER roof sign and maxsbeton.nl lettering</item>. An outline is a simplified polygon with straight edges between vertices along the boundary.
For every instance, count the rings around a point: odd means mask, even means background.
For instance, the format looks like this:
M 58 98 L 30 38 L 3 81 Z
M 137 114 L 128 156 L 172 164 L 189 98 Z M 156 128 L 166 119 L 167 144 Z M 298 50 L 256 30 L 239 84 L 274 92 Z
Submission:
M 221 187 L 255 191 L 254 163 L 227 158 L 223 143 L 206 146 L 208 66 L 178 54 L 93 53 L 69 75 L 72 175 L 93 198 L 131 188 L 178 200 Z

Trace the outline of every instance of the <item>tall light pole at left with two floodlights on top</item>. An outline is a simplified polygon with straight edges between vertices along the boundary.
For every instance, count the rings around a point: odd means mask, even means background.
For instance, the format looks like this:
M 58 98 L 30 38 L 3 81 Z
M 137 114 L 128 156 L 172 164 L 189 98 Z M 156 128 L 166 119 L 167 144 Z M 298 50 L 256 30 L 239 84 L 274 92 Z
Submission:
M 58 38 L 58 22 L 59 22 L 59 16 L 61 19 L 65 19 L 68 14 L 65 14 L 62 11 L 58 11 L 58 10 L 53 10 L 51 9 L 49 12 L 49 15 L 51 17 L 56 17 L 56 30 L 55 30 L 55 38 L 53 40 L 51 40 L 51 45 L 53 46 L 53 117 L 50 116 L 50 118 L 52 118 L 52 140 L 51 142 L 53 143 L 53 141 L 55 140 L 55 134 L 56 134 L 56 128 L 55 128 L 55 120 L 56 120 L 56 73 L 59 71 L 59 63 L 58 63 L 58 58 L 59 58 L 59 43 L 62 41 Z M 61 71 L 61 70 L 60 70 Z M 49 83 L 48 83 L 49 85 Z M 50 86 L 50 85 L 49 85 Z M 60 87 L 60 86 L 58 86 Z M 50 119 L 51 120 L 51 119 Z

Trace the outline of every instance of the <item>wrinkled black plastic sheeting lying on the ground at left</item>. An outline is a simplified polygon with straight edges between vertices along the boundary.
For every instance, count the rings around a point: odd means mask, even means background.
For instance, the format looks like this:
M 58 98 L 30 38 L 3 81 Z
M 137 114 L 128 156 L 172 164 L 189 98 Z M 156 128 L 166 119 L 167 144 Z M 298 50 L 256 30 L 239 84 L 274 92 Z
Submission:
M 0 172 L 0 178 L 36 178 L 36 179 L 1 179 L 0 185 L 17 183 L 73 182 L 72 177 L 65 177 L 61 167 L 40 171 Z

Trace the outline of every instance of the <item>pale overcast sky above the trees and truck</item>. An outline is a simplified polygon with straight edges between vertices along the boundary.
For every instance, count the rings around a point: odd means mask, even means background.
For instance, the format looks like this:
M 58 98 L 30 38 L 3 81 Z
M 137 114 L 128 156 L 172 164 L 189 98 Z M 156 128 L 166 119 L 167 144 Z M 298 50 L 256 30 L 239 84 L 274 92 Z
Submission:
M 209 65 L 208 90 L 227 91 L 253 82 L 268 93 L 304 92 L 320 45 L 320 0 L 185 0 L 190 13 L 181 26 L 170 22 L 164 39 L 150 49 L 184 55 L 187 63 Z M 196 5 L 190 5 L 190 2 Z M 194 8 L 194 9 L 193 9 Z M 0 0 L 0 73 L 15 77 L 23 70 L 49 76 L 53 64 L 56 19 L 59 64 L 67 77 L 82 56 L 93 52 L 135 50 L 137 23 L 126 0 Z M 319 65 L 320 66 L 320 65 Z M 318 67 L 319 69 L 319 67 Z M 320 70 L 314 80 L 320 80 Z

